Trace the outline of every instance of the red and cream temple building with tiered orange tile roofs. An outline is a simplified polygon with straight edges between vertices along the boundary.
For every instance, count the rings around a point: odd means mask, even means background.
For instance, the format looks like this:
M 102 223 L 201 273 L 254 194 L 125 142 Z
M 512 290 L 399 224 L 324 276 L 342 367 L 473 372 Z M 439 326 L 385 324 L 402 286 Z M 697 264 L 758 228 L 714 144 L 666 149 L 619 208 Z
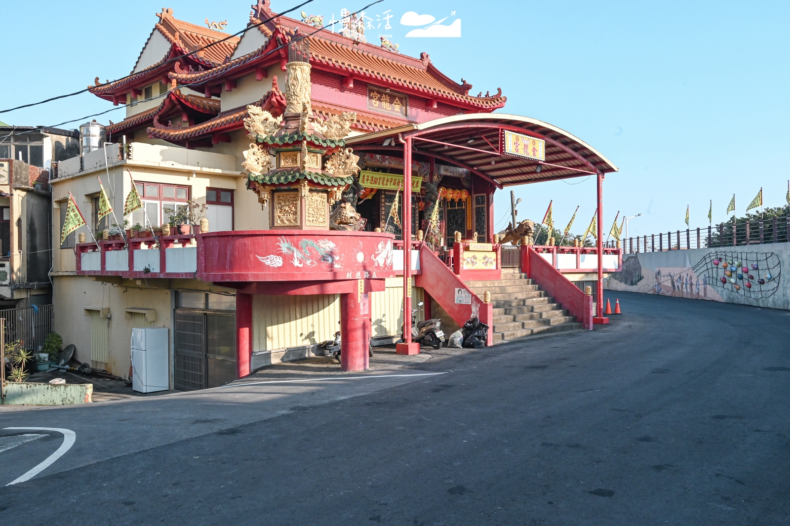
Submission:
M 369 339 L 419 352 L 412 302 L 446 334 L 479 318 L 487 344 L 607 321 L 574 283 L 600 286 L 619 250 L 494 228 L 496 190 L 556 178 L 595 175 L 600 216 L 617 168 L 594 148 L 367 43 L 354 15 L 333 32 L 260 0 L 242 36 L 156 16 L 130 76 L 89 88 L 126 105 L 111 144 L 51 180 L 55 237 L 70 195 L 88 222 L 53 258 L 78 359 L 126 376 L 131 329 L 165 327 L 170 388 L 203 389 L 319 353 L 338 323 L 344 370 L 367 369 Z

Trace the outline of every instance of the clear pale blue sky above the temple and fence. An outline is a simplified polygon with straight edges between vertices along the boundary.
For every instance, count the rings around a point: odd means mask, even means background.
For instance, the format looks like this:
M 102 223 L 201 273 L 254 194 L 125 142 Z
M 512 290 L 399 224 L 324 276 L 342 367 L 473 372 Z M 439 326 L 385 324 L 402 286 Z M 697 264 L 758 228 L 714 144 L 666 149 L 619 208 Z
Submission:
M 208 2 L 46 2 L 4 6 L 4 60 L 0 107 L 42 100 L 130 72 L 163 6 L 201 24 L 228 20 L 244 28 L 250 0 Z M 360 0 L 316 0 L 303 9 L 328 21 Z M 274 0 L 273 9 L 294 6 Z M 374 32 L 391 34 L 401 52 L 431 54 L 442 72 L 473 93 L 501 87 L 505 111 L 550 122 L 602 152 L 620 168 L 604 182 L 605 228 L 620 210 L 630 235 L 726 220 L 735 193 L 738 212 L 762 187 L 766 206 L 785 205 L 788 151 L 788 2 L 468 2 L 385 0 L 368 10 Z M 443 24 L 461 19 L 461 38 L 407 38 L 403 13 L 430 14 Z M 450 15 L 455 11 L 454 17 Z M 378 15 L 378 17 L 376 16 Z M 16 71 L 17 74 L 13 72 Z M 0 115 L 19 125 L 52 125 L 109 109 L 83 94 Z M 122 110 L 103 117 L 122 118 Z M 69 127 L 74 127 L 74 122 Z M 66 127 L 64 126 L 64 127 Z M 570 184 L 573 183 L 573 184 Z M 540 220 L 553 199 L 555 222 L 564 227 L 581 205 L 574 231 L 583 231 L 595 206 L 595 182 L 577 178 L 513 188 L 524 201 L 519 217 Z M 506 225 L 509 191 L 496 197 L 497 227 Z

